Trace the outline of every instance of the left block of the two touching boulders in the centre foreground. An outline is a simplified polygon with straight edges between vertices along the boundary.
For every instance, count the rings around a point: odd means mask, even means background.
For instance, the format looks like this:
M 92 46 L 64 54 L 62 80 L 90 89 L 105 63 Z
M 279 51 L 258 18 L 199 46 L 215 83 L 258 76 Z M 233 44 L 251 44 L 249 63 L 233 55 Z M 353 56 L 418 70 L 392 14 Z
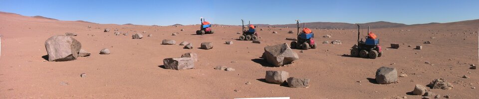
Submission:
M 274 84 L 282 84 L 288 79 L 289 73 L 286 71 L 266 71 L 266 82 Z

